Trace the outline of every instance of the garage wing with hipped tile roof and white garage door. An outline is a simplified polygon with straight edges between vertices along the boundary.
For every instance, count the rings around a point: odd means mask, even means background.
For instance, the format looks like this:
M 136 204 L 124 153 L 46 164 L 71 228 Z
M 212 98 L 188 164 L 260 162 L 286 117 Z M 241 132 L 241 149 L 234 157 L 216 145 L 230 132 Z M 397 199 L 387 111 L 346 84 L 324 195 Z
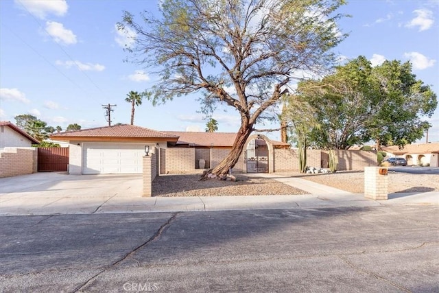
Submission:
M 132 125 L 59 132 L 50 138 L 69 142 L 70 174 L 141 174 L 146 152 L 178 141 L 175 135 Z

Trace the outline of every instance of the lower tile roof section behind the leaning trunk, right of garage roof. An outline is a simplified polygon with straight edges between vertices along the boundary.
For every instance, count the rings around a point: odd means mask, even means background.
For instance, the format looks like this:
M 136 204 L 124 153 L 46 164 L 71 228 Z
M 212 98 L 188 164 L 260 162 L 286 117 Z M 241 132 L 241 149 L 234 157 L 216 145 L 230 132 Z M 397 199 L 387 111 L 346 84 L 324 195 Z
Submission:
M 165 133 L 173 134 L 179 137 L 177 145 L 192 145 L 211 147 L 231 147 L 235 141 L 235 132 L 178 132 L 178 131 L 164 131 Z M 281 141 L 272 141 L 274 145 L 289 146 L 289 143 Z

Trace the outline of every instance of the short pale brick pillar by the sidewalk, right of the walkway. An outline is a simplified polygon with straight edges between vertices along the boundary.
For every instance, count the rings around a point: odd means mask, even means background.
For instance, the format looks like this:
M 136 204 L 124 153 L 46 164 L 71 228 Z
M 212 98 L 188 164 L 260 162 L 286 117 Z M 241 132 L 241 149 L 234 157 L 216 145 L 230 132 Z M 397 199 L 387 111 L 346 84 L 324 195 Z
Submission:
M 388 169 L 364 167 L 364 197 L 372 200 L 388 199 Z

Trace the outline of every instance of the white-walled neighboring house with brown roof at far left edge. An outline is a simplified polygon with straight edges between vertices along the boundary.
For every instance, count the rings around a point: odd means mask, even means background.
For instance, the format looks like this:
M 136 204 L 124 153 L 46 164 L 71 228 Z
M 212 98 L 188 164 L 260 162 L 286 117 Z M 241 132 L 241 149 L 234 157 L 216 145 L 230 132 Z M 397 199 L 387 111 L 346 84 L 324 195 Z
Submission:
M 10 121 L 0 121 L 0 149 L 29 148 L 40 143 Z

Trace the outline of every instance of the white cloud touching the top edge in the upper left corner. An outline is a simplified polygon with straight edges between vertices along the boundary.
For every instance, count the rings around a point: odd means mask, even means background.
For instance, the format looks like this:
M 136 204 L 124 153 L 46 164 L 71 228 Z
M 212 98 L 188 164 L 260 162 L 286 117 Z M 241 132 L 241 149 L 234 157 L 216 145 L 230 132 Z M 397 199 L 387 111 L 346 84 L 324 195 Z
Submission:
M 69 8 L 65 0 L 15 0 L 15 3 L 39 19 L 45 19 L 47 14 L 64 16 Z

